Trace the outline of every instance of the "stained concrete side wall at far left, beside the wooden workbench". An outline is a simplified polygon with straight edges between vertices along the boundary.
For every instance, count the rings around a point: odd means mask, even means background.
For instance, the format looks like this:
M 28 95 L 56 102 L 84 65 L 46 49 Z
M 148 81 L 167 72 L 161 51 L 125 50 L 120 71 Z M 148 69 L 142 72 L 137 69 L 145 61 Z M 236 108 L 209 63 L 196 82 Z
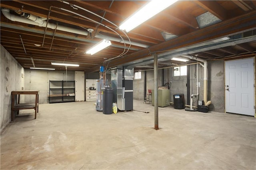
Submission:
M 22 90 L 24 87 L 24 78 L 22 78 L 24 69 L 2 45 L 0 51 L 0 120 L 2 131 L 11 121 L 11 92 Z

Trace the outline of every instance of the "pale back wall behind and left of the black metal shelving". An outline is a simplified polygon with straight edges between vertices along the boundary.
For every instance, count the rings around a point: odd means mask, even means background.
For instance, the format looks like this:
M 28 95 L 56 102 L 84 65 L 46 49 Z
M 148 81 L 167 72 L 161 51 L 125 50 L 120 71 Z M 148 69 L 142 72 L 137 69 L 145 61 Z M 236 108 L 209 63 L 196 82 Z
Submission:
M 75 71 L 25 69 L 25 90 L 39 90 L 39 103 L 49 103 L 49 80 L 75 80 Z M 25 96 L 25 102 L 31 103 L 34 97 Z

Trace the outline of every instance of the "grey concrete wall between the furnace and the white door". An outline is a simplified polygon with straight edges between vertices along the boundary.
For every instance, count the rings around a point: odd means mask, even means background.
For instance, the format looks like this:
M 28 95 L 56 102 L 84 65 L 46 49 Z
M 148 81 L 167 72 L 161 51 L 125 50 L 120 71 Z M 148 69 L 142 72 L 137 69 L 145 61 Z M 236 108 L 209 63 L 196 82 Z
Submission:
M 194 77 L 196 65 L 190 65 L 190 96 L 197 93 L 196 82 Z M 154 71 L 146 71 L 147 87 L 146 89 L 154 89 Z M 173 102 L 174 94 L 184 94 L 185 103 L 187 103 L 187 76 L 172 76 L 172 69 L 165 69 L 164 83 L 170 80 L 170 101 Z M 197 75 L 197 73 L 196 73 Z M 224 89 L 224 60 L 208 62 L 208 100 L 212 101 L 209 106 L 210 111 L 224 112 L 225 89 Z M 204 100 L 204 67 L 199 65 L 199 96 L 193 100 L 193 106 L 198 105 L 198 100 Z M 134 80 L 134 99 L 144 100 L 144 71 L 142 71 L 142 79 Z M 158 70 L 158 86 L 162 86 L 162 70 Z

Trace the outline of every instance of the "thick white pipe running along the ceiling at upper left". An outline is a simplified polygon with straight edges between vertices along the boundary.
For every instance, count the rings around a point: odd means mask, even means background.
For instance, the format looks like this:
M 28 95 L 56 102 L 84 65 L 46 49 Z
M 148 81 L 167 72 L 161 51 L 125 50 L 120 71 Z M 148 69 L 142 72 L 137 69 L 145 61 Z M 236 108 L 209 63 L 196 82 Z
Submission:
M 31 24 L 31 25 L 40 26 L 40 27 L 46 27 L 46 24 L 47 24 L 46 18 L 41 18 L 41 17 L 38 17 L 38 16 L 34 16 L 32 14 L 30 14 L 30 16 L 27 19 L 27 18 L 23 18 L 23 17 L 20 17 L 20 16 L 16 16 L 14 14 L 10 14 L 10 10 L 6 9 L 6 8 L 2 9 L 2 13 L 4 14 L 4 16 L 6 18 L 8 18 L 9 20 L 12 20 L 12 21 L 22 22 L 22 23 Z M 56 29 L 56 24 L 52 24 L 52 23 L 48 22 L 47 28 L 55 30 Z M 75 28 L 69 28 L 69 27 L 61 26 L 61 25 L 58 25 L 57 30 L 88 36 L 88 32 L 86 32 L 86 31 L 78 30 L 78 29 L 75 29 Z M 122 39 L 120 39 L 120 38 L 115 38 L 115 37 L 110 37 L 110 36 L 103 36 L 103 35 L 100 35 L 100 34 L 97 34 L 95 37 L 96 38 L 101 38 L 101 39 L 104 39 L 104 38 L 106 39 L 107 38 L 108 40 L 111 40 L 111 41 L 114 41 L 114 42 L 123 43 Z M 138 47 L 144 47 L 144 48 L 149 47 L 148 45 L 143 44 L 143 43 L 129 42 L 128 40 L 124 40 L 124 42 L 128 43 L 128 44 L 131 43 L 131 45 L 135 45 L 135 46 L 138 46 Z

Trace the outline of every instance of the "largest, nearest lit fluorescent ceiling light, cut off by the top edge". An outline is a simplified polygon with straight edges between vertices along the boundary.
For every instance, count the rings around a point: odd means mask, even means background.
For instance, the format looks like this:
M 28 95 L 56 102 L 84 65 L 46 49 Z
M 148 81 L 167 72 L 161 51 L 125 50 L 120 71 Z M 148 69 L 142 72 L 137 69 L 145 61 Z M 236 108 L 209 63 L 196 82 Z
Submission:
M 178 0 L 152 0 L 125 20 L 119 28 L 129 32 L 177 1 Z

